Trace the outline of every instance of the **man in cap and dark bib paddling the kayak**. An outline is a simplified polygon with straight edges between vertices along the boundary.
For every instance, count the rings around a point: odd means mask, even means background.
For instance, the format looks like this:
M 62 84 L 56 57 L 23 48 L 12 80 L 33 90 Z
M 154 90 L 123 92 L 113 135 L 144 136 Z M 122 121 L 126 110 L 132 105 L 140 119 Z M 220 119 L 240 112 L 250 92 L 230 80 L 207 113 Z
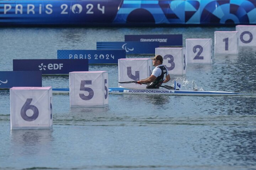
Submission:
M 163 58 L 161 55 L 156 55 L 151 60 L 153 60 L 153 66 L 155 66 L 152 74 L 148 78 L 137 82 L 139 84 L 148 83 L 147 89 L 158 89 L 162 83 L 167 83 L 171 78 L 168 70 L 162 65 Z

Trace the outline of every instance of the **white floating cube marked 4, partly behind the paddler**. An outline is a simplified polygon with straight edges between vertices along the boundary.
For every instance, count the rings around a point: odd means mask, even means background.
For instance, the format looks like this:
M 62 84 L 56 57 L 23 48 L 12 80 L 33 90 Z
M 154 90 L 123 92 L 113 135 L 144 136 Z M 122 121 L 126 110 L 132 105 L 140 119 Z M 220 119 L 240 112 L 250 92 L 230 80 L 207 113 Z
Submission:
M 151 75 L 152 60 L 150 58 L 124 58 L 118 60 L 118 82 L 138 81 Z M 118 83 L 123 87 L 146 88 L 145 84 Z

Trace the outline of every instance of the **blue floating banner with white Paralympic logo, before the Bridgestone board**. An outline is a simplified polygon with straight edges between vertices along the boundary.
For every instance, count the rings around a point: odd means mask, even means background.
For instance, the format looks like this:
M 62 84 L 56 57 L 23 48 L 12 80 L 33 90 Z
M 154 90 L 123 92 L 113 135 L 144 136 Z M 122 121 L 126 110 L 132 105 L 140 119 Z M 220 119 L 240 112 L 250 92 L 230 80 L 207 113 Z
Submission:
M 159 47 L 159 42 L 97 42 L 97 50 L 122 50 L 126 54 L 155 54 L 155 48 Z

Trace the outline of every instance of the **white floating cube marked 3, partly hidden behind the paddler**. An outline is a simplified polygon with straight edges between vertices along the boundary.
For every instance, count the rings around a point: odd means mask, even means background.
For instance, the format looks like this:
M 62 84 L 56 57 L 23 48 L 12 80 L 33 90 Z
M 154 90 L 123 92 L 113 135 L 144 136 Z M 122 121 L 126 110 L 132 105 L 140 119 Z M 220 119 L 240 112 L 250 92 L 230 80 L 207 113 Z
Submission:
M 185 48 L 156 48 L 155 54 L 164 59 L 163 65 L 170 75 L 186 74 L 186 49 Z

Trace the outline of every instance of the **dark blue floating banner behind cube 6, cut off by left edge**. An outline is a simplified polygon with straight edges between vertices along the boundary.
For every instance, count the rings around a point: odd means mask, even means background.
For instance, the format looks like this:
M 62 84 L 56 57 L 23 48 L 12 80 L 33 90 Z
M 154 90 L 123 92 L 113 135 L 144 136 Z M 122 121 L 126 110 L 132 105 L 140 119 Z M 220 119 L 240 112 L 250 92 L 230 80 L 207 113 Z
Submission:
M 0 71 L 0 89 L 42 87 L 41 71 Z

